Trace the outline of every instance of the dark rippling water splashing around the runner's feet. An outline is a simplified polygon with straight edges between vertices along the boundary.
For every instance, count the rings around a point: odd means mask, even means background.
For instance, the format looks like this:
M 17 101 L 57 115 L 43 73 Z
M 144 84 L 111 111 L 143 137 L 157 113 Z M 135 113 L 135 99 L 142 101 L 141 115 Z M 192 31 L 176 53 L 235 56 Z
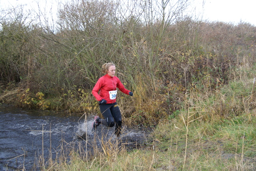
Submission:
M 40 170 L 42 158 L 47 161 L 49 151 L 54 158 L 60 145 L 82 142 L 90 150 L 95 135 L 115 139 L 114 127 L 100 125 L 94 134 L 92 117 L 0 105 L 0 170 Z M 144 143 L 146 133 L 124 127 L 120 139 L 133 147 Z

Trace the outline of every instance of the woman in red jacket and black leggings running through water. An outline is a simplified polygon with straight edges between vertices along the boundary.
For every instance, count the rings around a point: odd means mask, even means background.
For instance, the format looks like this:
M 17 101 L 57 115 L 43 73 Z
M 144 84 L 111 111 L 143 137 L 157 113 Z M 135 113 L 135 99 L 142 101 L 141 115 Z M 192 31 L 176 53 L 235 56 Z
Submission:
M 108 63 L 102 65 L 102 72 L 105 75 L 99 78 L 92 89 L 92 94 L 96 100 L 99 101 L 100 112 L 104 119 L 101 119 L 99 116 L 95 116 L 94 121 L 92 122 L 92 129 L 96 130 L 100 124 L 107 127 L 113 127 L 116 123 L 115 134 L 119 137 L 122 130 L 122 116 L 118 104 L 116 103 L 116 88 L 130 96 L 132 96 L 133 93 L 126 89 L 120 82 L 119 78 L 115 76 L 115 64 Z M 99 91 L 100 93 L 98 94 Z

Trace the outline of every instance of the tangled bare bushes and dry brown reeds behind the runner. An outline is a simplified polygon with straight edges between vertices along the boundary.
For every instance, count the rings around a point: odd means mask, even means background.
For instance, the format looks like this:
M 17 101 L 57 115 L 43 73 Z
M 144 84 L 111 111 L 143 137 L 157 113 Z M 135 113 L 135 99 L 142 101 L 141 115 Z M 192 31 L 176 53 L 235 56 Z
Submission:
M 100 66 L 114 62 L 134 91 L 118 101 L 127 123 L 157 124 L 188 94 L 218 90 L 236 68 L 254 65 L 255 26 L 181 17 L 186 0 L 131 2 L 59 4 L 54 24 L 10 9 L 0 18 L 1 93 L 18 87 L 20 107 L 99 113 L 90 92 Z

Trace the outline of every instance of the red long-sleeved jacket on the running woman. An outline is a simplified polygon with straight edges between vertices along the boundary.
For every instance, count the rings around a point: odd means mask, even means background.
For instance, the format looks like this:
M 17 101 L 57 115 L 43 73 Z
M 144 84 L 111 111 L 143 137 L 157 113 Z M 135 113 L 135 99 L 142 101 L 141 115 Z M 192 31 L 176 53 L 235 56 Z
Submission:
M 116 99 L 110 99 L 109 91 L 116 90 L 116 87 L 118 87 L 118 89 L 125 94 L 129 94 L 130 92 L 128 89 L 124 88 L 124 85 L 121 83 L 119 78 L 116 76 L 111 77 L 106 74 L 105 76 L 99 78 L 94 88 L 92 89 L 92 94 L 98 101 L 105 99 L 107 103 L 115 103 Z M 98 94 L 99 90 L 100 94 Z

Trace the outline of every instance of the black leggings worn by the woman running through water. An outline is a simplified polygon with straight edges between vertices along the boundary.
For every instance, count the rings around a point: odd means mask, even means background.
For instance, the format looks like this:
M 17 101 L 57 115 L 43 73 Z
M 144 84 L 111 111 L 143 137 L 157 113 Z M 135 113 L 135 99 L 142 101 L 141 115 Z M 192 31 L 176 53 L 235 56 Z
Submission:
M 122 129 L 122 116 L 118 104 L 100 104 L 100 112 L 104 116 L 100 122 L 107 127 L 113 127 L 116 123 L 115 134 L 119 136 Z

